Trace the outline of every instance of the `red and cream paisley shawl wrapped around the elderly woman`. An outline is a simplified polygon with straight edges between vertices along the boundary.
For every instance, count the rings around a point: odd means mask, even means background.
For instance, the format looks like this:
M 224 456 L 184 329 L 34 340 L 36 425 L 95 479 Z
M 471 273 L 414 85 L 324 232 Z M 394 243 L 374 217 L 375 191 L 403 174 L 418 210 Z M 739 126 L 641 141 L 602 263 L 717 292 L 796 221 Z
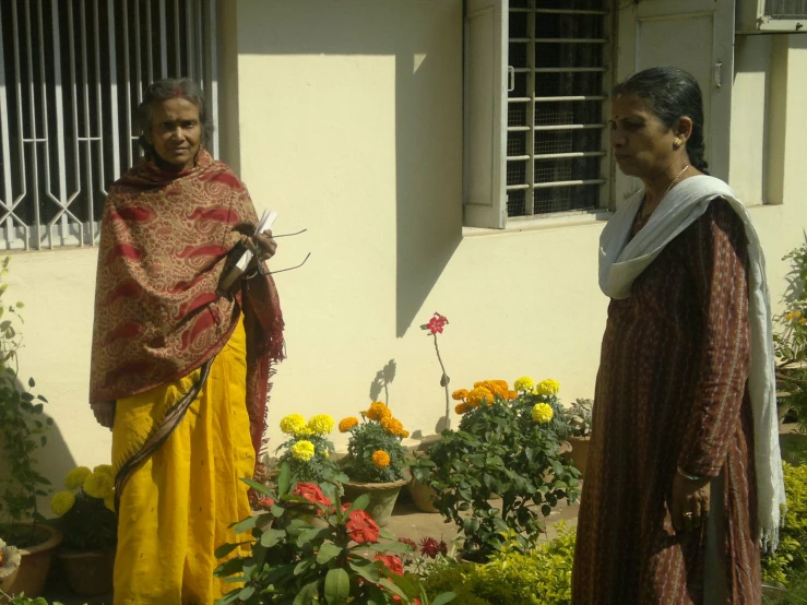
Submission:
M 246 187 L 205 151 L 166 173 L 142 159 L 109 189 L 98 249 L 91 403 L 177 380 L 215 357 L 239 315 L 247 332 L 247 408 L 260 451 L 271 365 L 283 351 L 283 316 L 271 276 L 216 287 L 227 253 L 254 232 Z

